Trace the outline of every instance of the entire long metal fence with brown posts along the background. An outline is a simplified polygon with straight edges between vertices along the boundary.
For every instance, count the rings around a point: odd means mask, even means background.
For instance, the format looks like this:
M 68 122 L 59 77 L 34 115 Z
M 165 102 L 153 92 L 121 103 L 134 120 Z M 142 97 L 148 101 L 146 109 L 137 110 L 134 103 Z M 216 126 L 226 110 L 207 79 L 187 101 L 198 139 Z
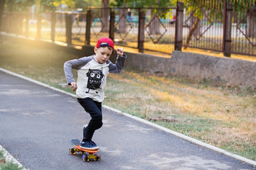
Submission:
M 178 7 L 179 6 L 179 7 Z M 42 15 L 5 12 L 2 31 L 67 44 L 115 44 L 172 53 L 186 47 L 256 56 L 256 3 L 199 0 L 194 10 L 176 8 L 88 8 L 87 12 Z M 41 21 L 41 22 L 40 22 Z

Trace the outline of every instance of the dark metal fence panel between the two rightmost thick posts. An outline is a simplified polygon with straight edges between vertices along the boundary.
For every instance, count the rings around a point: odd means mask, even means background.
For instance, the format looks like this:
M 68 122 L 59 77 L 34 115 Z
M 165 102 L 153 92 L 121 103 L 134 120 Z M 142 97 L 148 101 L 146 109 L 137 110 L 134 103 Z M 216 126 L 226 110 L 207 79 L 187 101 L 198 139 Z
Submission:
M 184 11 L 183 46 L 205 50 L 223 50 L 223 2 L 197 1 L 193 11 Z M 211 12 L 214 10 L 215 14 Z

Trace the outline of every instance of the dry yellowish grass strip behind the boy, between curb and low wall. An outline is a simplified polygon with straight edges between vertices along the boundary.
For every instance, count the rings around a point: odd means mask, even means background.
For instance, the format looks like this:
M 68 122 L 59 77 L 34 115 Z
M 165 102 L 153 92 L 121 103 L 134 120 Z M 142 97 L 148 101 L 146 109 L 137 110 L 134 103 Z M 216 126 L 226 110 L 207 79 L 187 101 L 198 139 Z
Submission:
M 0 51 L 0 67 L 72 93 L 62 86 L 62 67 L 76 56 L 10 40 L 0 44 Z M 212 80 L 193 82 L 125 68 L 108 75 L 103 105 L 256 160 L 256 92 L 249 87 L 220 87 Z

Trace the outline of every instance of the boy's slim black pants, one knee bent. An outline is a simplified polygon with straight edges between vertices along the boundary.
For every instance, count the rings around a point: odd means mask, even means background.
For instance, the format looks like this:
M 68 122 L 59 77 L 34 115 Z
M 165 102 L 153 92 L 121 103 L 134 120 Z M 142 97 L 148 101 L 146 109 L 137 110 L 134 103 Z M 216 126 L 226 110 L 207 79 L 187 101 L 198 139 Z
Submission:
M 96 129 L 102 127 L 102 103 L 95 102 L 93 99 L 78 99 L 78 102 L 83 106 L 84 110 L 90 114 L 91 120 L 85 129 L 83 141 L 91 141 L 93 138 L 93 133 Z

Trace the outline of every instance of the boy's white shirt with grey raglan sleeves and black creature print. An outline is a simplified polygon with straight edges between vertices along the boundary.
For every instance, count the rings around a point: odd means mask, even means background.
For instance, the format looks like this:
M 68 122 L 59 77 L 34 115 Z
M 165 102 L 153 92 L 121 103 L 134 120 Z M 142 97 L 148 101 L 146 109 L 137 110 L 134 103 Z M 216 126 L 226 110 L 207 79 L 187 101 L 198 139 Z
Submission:
M 96 102 L 102 102 L 108 73 L 119 73 L 126 61 L 126 55 L 117 56 L 115 64 L 109 60 L 100 64 L 96 62 L 93 56 L 85 56 L 81 59 L 72 59 L 65 62 L 64 71 L 67 82 L 72 83 L 75 82 L 72 68 L 78 70 L 78 89 L 76 91 L 78 98 L 89 97 Z

